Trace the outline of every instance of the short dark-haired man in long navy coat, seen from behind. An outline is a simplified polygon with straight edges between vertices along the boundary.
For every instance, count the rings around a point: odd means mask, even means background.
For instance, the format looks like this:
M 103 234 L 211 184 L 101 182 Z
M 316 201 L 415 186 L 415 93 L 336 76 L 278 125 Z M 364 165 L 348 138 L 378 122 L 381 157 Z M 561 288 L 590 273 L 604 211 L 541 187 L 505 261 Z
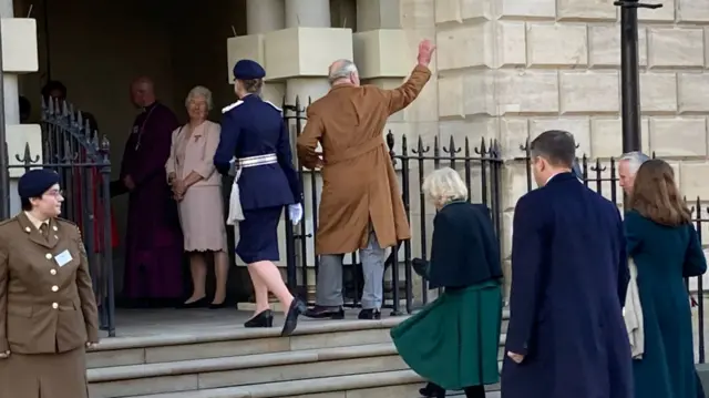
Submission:
M 572 134 L 544 132 L 531 154 L 540 188 L 514 214 L 502 398 L 631 398 L 618 208 L 572 173 Z

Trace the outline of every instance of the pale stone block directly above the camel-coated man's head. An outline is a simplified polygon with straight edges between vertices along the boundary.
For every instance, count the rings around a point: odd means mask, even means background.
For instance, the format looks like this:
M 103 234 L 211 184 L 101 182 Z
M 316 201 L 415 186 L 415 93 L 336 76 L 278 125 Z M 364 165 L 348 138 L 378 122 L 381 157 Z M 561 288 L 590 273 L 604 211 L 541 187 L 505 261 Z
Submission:
M 299 27 L 265 34 L 267 80 L 325 78 L 338 59 L 352 59 L 351 29 Z

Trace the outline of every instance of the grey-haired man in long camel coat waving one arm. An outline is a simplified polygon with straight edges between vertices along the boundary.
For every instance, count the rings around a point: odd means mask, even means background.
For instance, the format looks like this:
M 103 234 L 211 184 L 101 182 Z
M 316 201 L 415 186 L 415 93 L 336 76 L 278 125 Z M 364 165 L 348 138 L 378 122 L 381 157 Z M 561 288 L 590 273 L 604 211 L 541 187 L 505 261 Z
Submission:
M 383 130 L 387 119 L 413 102 L 431 78 L 434 50 L 422 41 L 418 65 L 394 90 L 360 86 L 354 63 L 336 61 L 329 71 L 332 89 L 308 108 L 298 159 L 305 167 L 320 169 L 323 185 L 316 233 L 316 306 L 306 316 L 343 317 L 342 258 L 359 249 L 364 274 L 359 318 L 381 317 L 384 251 L 411 237 Z M 322 153 L 316 152 L 318 143 Z

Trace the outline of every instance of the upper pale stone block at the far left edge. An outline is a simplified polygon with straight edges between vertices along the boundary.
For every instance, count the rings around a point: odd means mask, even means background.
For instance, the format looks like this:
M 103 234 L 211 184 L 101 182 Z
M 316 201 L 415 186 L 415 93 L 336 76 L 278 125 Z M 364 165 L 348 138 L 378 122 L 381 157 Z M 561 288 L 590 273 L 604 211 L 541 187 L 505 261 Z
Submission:
M 9 73 L 39 71 L 37 20 L 2 18 L 0 23 L 2 24 L 2 70 Z

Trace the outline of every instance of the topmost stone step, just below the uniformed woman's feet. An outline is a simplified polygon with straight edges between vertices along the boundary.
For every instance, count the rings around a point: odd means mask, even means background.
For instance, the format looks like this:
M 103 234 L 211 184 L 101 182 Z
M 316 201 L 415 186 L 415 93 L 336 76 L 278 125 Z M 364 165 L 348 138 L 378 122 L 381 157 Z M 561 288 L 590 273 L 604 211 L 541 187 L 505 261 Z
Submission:
M 503 317 L 508 317 L 507 310 Z M 114 337 L 102 340 L 88 353 L 88 367 L 93 369 L 391 343 L 389 329 L 405 318 L 304 320 L 288 338 L 280 337 L 280 328 L 276 327 Z M 504 335 L 506 320 L 503 320 L 502 327 Z

